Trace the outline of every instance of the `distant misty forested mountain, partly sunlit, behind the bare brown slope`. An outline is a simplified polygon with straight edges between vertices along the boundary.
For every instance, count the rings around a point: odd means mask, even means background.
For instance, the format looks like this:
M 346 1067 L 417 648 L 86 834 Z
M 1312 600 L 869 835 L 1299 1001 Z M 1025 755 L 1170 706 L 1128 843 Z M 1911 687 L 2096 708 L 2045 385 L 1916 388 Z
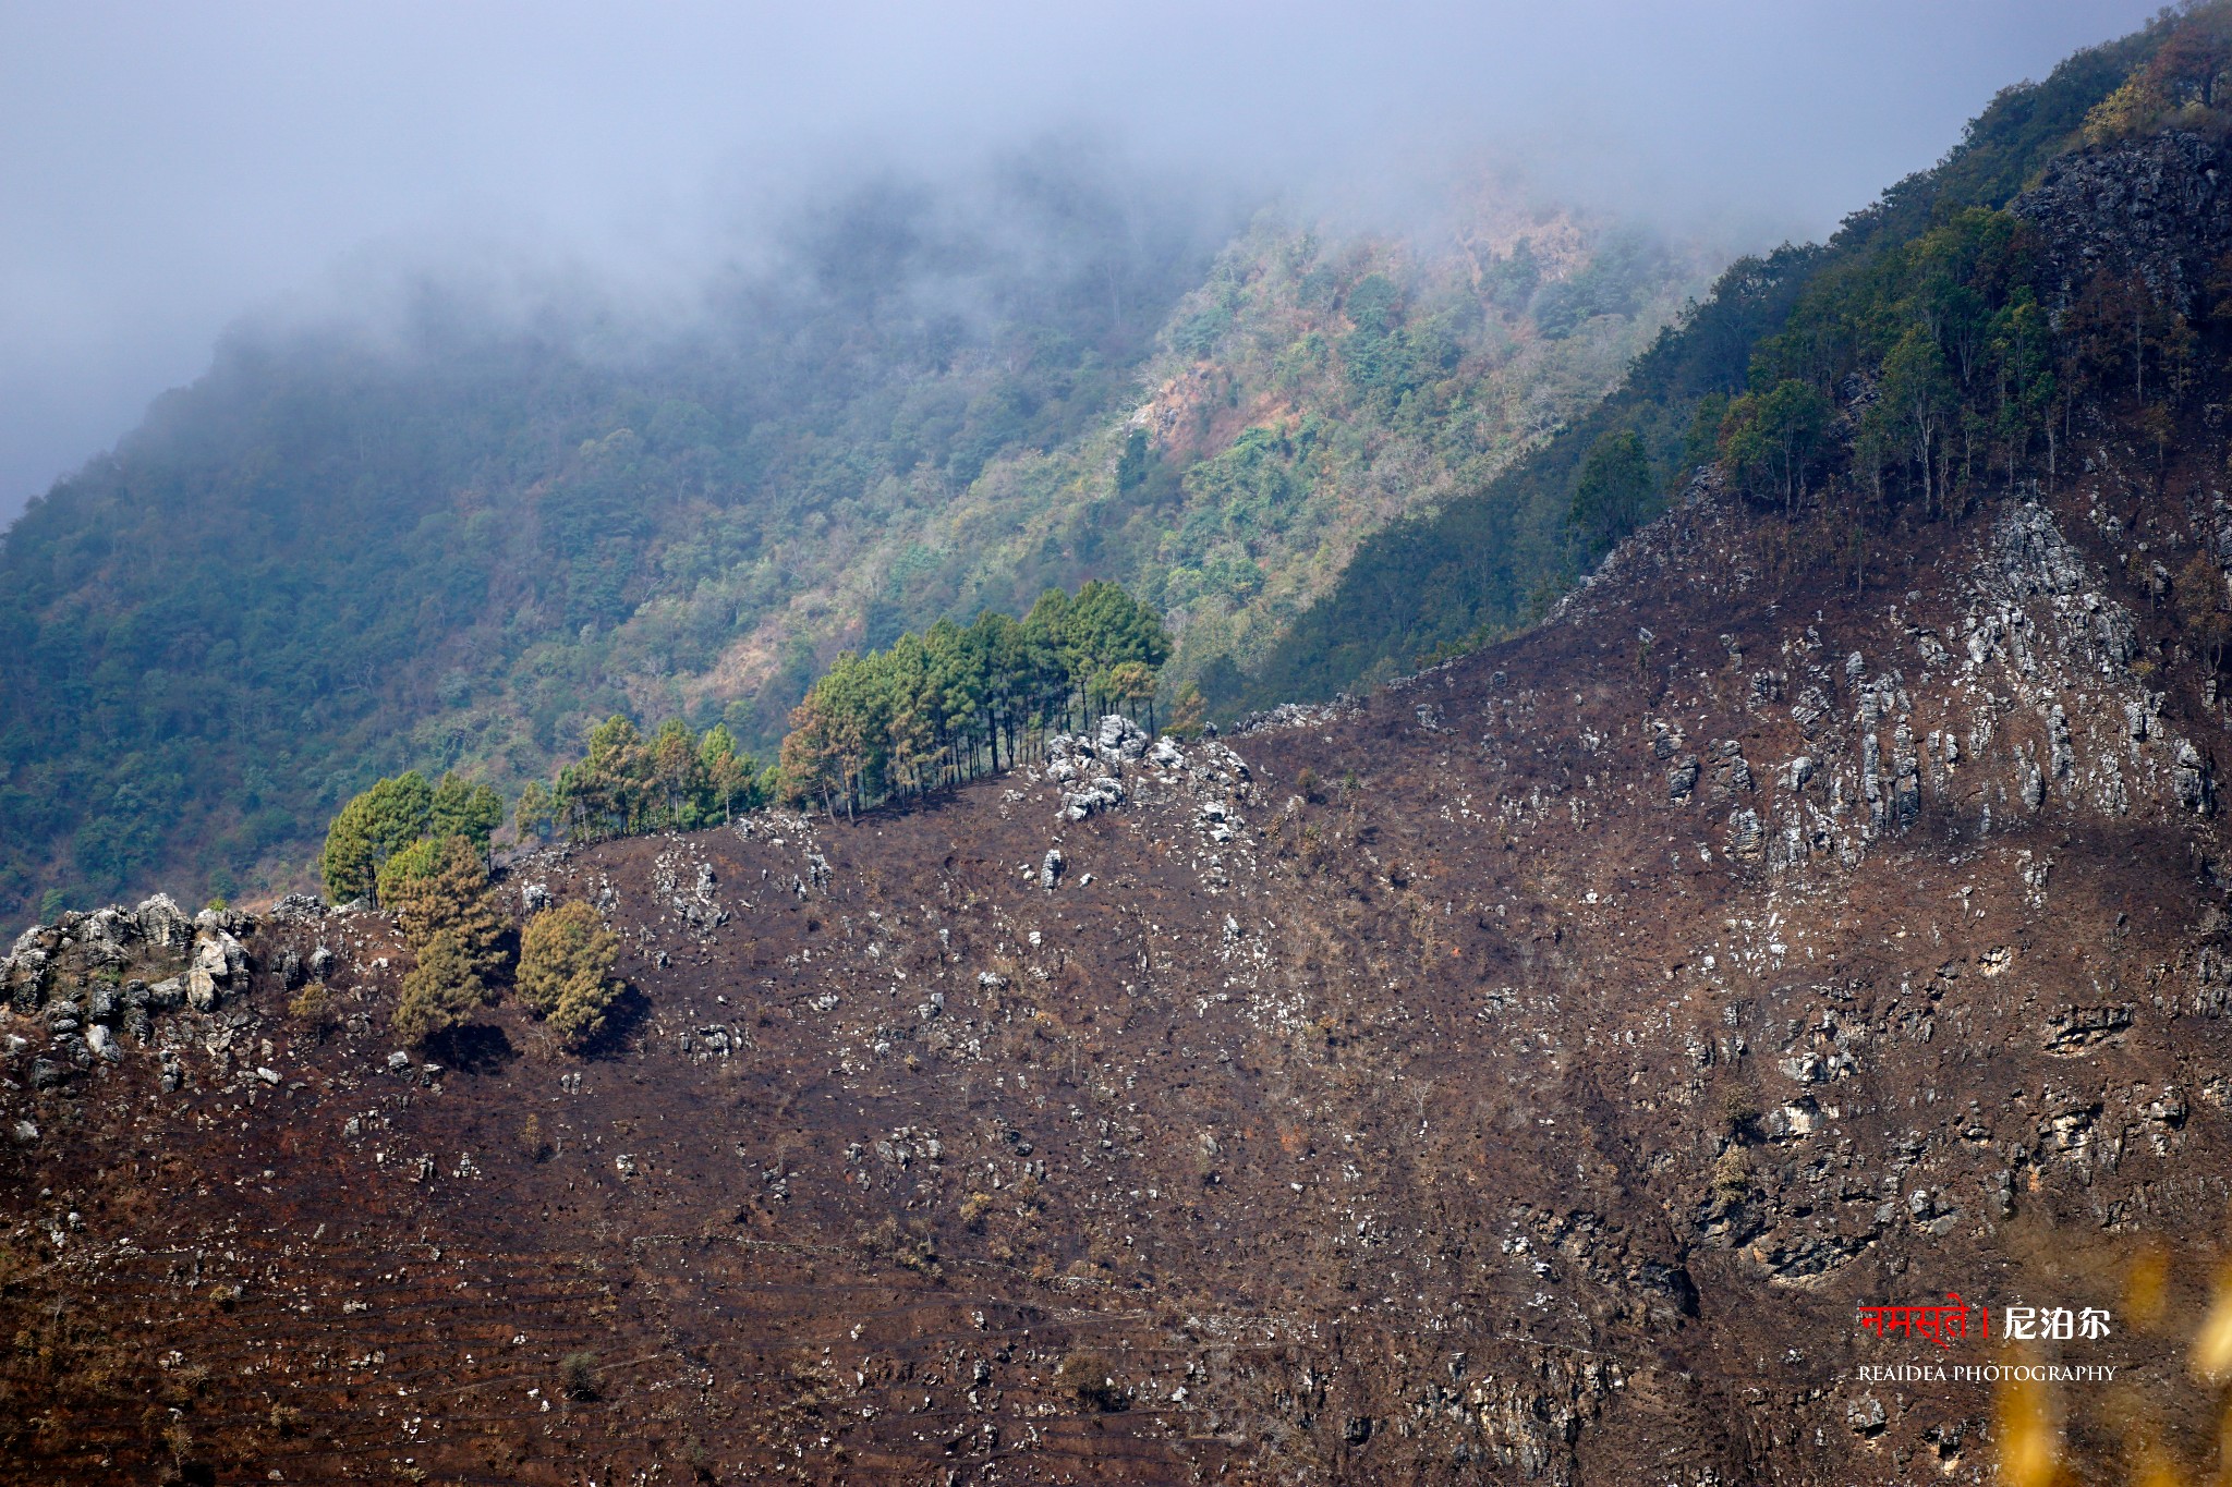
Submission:
M 33 502 L 0 916 L 306 887 L 375 776 L 511 794 L 612 713 L 775 758 L 841 649 L 1094 577 L 1170 613 L 1170 687 L 1234 693 L 1364 533 L 1587 408 L 1701 281 L 1489 189 L 1422 252 L 1045 158 L 777 239 L 685 328 L 429 288 L 379 334 L 243 330 Z

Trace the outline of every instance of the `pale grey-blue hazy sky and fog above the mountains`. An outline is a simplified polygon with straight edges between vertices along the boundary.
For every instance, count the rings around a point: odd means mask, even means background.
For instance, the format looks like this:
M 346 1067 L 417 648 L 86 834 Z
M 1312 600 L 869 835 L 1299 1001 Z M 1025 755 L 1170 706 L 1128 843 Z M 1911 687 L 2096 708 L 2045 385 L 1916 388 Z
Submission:
M 1750 247 L 1824 234 L 2154 9 L 0 0 L 0 519 L 230 321 L 384 263 L 685 283 L 770 192 L 1049 129 L 1384 210 L 1493 149 Z

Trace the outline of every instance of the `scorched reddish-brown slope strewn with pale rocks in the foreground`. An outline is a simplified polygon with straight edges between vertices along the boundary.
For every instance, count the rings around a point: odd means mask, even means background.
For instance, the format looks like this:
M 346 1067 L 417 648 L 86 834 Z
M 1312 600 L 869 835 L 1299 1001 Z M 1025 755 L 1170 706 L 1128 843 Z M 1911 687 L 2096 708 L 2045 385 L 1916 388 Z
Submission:
M 2022 1360 L 2114 1369 L 2087 1480 L 2201 1460 L 2219 412 L 1861 582 L 1707 482 L 1362 702 L 518 861 L 623 932 L 585 1061 L 397 1052 L 375 914 L 38 930 L 0 1478 L 1986 1480 Z

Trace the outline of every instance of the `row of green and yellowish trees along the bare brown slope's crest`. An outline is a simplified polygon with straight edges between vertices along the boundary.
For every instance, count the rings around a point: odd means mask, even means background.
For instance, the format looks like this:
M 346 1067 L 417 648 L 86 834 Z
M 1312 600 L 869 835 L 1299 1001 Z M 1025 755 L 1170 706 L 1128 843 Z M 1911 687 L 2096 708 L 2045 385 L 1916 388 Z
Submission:
M 1167 655 L 1163 615 L 1118 584 L 1049 589 L 1022 620 L 987 611 L 969 626 L 946 620 L 882 651 L 846 651 L 792 711 L 772 769 L 739 751 L 723 725 L 699 736 L 670 718 L 645 736 L 612 716 L 589 731 L 580 760 L 551 785 L 531 780 L 511 814 L 520 840 L 598 840 L 725 823 L 772 798 L 857 811 L 1013 767 L 1051 729 L 1100 709 L 1145 711 L 1152 727 Z M 1181 693 L 1178 722 L 1199 711 L 1199 693 Z M 335 903 L 362 898 L 395 914 L 413 954 L 395 1008 L 404 1037 L 460 1028 L 509 981 L 562 1046 L 583 1048 L 623 990 L 612 979 L 618 939 L 594 907 L 565 903 L 533 914 L 511 954 L 489 887 L 502 825 L 504 798 L 491 785 L 400 774 L 333 818 L 319 876 Z

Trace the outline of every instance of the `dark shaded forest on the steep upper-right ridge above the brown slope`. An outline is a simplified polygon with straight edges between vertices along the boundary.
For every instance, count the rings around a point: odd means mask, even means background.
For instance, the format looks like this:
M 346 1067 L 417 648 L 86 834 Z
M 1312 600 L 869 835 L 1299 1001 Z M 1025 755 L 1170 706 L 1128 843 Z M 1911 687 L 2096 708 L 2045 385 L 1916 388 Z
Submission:
M 2020 464 L 2020 448 L 2042 444 L 2053 412 L 2067 412 L 2074 379 L 2069 368 L 2033 368 L 2031 401 L 2004 401 L 2009 383 L 2000 372 L 2031 354 L 2009 337 L 2027 334 L 2038 346 L 2045 334 L 2042 323 L 2018 332 L 1991 319 L 2007 310 L 2015 288 L 2009 274 L 2027 270 L 1986 263 L 1982 272 L 1995 283 L 1969 283 L 1978 263 L 1962 254 L 1984 227 L 1946 225 L 1969 210 L 2004 207 L 2053 156 L 2125 127 L 2118 120 L 2132 118 L 2145 91 L 2136 78 L 2170 31 L 2167 20 L 2156 22 L 2071 56 L 2045 82 L 2004 89 L 1935 169 L 1893 185 L 1826 245 L 1786 245 L 1730 265 L 1612 397 L 1540 453 L 1364 542 L 1339 586 L 1281 633 L 1245 684 L 1248 696 L 1263 707 L 1326 696 L 1529 624 L 1618 537 L 1656 515 L 1699 464 L 1732 459 L 1770 479 L 1763 466 L 1777 461 L 1766 457 L 1766 444 L 1788 441 L 1772 479 L 1792 486 L 1790 495 L 1832 453 L 1846 475 L 1857 459 L 1886 466 L 1895 450 L 1884 446 L 1893 435 L 1882 415 L 1859 426 L 1884 357 L 1917 317 L 1931 321 L 1935 343 L 1933 317 L 1949 303 L 1960 314 L 1978 312 L 1973 292 L 2000 299 L 1964 323 L 1973 341 L 1971 357 L 1953 368 L 1960 388 L 1940 392 L 1935 372 L 1926 375 L 1924 404 L 1944 404 L 1946 441 L 1964 461 L 1998 459 L 2002 470 L 2009 459 Z M 1946 234 L 1924 243 L 1933 227 Z M 1917 292 L 1928 303 L 1917 303 Z M 1911 357 L 1908 370 L 1924 368 Z M 1752 401 L 1728 424 L 1732 399 L 1745 395 Z M 1620 446 L 1629 459 L 1618 459 Z M 1866 455 L 1855 455 L 1859 446 Z M 1926 453 L 1922 464 L 1940 455 Z M 1857 484 L 1882 495 L 1879 482 Z M 1859 542 L 1857 555 L 1884 542 L 1897 517 L 1882 499 L 1859 511 L 1841 502 L 1783 504 L 1792 508 L 1786 537 L 1797 551 Z

